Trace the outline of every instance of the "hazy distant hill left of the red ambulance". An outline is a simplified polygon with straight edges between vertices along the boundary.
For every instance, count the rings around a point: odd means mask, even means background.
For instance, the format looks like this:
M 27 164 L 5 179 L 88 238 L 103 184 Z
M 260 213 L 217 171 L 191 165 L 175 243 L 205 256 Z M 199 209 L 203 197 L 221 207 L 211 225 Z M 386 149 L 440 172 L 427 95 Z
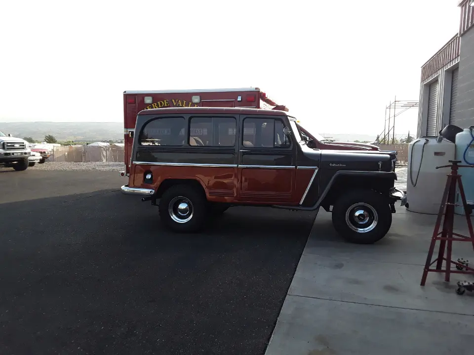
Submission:
M 123 122 L 0 122 L 4 134 L 43 140 L 50 134 L 59 141 L 123 139 Z

